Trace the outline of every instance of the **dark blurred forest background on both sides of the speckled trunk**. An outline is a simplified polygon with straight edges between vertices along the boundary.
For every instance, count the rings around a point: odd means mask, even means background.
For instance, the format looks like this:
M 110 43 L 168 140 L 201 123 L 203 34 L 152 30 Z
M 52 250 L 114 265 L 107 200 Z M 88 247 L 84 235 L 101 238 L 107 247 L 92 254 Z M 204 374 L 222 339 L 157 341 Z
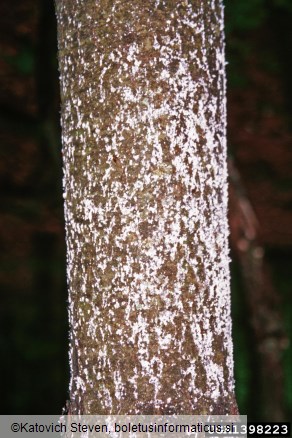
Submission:
M 292 2 L 226 0 L 237 399 L 292 418 Z M 58 414 L 68 324 L 53 0 L 0 0 L 1 414 Z

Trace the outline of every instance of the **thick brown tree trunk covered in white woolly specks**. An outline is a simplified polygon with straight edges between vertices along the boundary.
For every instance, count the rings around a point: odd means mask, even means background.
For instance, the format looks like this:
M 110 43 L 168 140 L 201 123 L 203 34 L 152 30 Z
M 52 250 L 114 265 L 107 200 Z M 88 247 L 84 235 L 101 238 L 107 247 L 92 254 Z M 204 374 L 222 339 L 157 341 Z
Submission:
M 57 0 L 72 413 L 236 413 L 220 0 Z

